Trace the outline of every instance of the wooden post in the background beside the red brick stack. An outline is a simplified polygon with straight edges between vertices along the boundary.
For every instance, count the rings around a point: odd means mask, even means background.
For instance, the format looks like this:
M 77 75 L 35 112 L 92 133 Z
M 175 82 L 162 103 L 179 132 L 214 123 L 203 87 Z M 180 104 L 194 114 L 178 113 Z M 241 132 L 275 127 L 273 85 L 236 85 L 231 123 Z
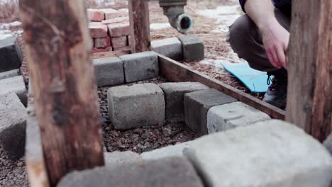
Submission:
M 129 0 L 131 22 L 131 52 L 151 50 L 149 3 L 142 0 Z

